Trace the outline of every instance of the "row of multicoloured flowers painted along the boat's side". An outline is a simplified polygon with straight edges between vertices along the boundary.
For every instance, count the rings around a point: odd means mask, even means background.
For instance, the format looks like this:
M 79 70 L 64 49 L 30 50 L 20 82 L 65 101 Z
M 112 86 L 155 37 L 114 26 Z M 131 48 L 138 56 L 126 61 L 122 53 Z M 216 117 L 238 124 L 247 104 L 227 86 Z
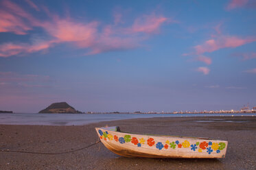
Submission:
M 156 149 L 163 149 L 165 148 L 166 150 L 170 150 L 170 149 L 181 149 L 181 148 L 188 148 L 190 147 L 189 150 L 191 151 L 198 151 L 200 153 L 204 152 L 207 154 L 211 154 L 213 151 L 216 154 L 219 154 L 221 152 L 221 150 L 223 150 L 226 147 L 226 143 L 215 143 L 214 141 L 202 141 L 202 142 L 195 142 L 195 143 L 189 143 L 189 141 L 185 140 L 181 140 L 181 141 L 165 141 L 165 143 L 160 142 L 160 141 L 154 141 L 154 138 L 148 138 L 147 143 L 146 140 L 144 138 L 137 138 L 137 137 L 133 137 L 129 134 L 124 135 L 124 137 L 118 137 L 117 135 L 112 135 L 109 134 L 107 131 L 102 131 L 102 130 L 98 130 L 98 133 L 100 134 L 100 139 L 101 140 L 105 140 L 105 141 L 116 141 L 119 142 L 121 144 L 124 143 L 132 143 L 133 145 L 137 145 L 137 147 L 142 147 L 143 144 L 148 144 L 150 147 L 152 147 L 155 143 L 156 143 Z M 176 147 L 177 146 L 177 147 Z M 170 147 L 170 149 L 169 149 Z M 205 150 L 205 151 L 204 151 Z M 216 151 L 216 152 L 215 152 Z

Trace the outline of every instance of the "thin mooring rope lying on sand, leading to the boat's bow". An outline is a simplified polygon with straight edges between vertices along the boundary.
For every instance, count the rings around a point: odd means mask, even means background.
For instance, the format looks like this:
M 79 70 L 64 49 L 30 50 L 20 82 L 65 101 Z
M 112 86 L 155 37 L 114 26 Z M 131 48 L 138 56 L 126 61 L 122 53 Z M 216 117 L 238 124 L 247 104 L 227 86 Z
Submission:
M 75 151 L 80 151 L 82 149 L 86 149 L 86 148 L 89 148 L 89 147 L 92 147 L 93 145 L 96 145 L 97 143 L 100 143 L 100 141 L 97 141 L 91 145 L 88 145 L 86 147 L 82 147 L 82 148 L 79 148 L 79 149 L 75 149 L 75 150 L 72 150 L 72 151 L 62 151 L 62 152 L 56 152 L 56 153 L 46 153 L 46 152 L 36 152 L 36 151 L 15 151 L 15 150 L 0 150 L 2 152 L 16 152 L 16 153 L 24 153 L 24 154 L 41 154 L 41 155 L 58 155 L 58 154 L 67 154 L 67 153 L 71 153 L 71 152 L 75 152 Z

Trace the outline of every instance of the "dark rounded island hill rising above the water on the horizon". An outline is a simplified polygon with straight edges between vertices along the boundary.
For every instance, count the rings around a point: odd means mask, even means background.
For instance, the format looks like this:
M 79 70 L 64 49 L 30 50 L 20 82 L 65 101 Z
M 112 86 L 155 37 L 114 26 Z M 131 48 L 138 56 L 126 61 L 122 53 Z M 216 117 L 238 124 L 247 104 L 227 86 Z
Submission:
M 72 106 L 69 106 L 66 102 L 54 103 L 41 110 L 39 113 L 82 113 L 75 110 Z

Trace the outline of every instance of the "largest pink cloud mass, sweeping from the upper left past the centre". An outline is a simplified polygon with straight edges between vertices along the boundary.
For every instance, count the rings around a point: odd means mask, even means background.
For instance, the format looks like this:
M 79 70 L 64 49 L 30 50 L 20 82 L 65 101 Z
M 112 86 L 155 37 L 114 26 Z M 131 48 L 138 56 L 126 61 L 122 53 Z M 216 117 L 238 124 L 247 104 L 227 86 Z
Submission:
M 26 1 L 34 10 L 39 11 L 37 5 L 32 1 Z M 143 40 L 150 38 L 151 34 L 158 34 L 163 23 L 167 18 L 155 13 L 143 15 L 135 19 L 132 25 L 120 27 L 121 14 L 115 14 L 114 25 L 102 25 L 99 21 L 82 23 L 75 21 L 70 17 L 61 19 L 56 14 L 51 14 L 47 8 L 44 8 L 49 21 L 40 21 L 31 14 L 25 12 L 21 7 L 11 1 L 3 1 L 0 10 L 0 32 L 13 32 L 14 34 L 27 34 L 27 31 L 34 27 L 43 28 L 49 40 L 40 42 L 25 43 L 5 43 L 0 45 L 0 57 L 25 55 L 54 47 L 61 43 L 71 43 L 74 47 L 87 49 L 87 55 L 103 53 L 106 51 L 120 51 L 141 47 Z

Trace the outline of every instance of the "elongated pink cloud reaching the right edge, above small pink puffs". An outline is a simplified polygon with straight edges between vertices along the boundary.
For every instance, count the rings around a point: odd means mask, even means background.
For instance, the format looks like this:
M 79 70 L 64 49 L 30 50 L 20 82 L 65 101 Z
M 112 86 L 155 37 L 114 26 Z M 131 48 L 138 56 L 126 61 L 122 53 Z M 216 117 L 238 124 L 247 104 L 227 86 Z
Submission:
M 194 49 L 196 54 L 205 52 L 213 52 L 223 48 L 235 48 L 256 41 L 256 38 L 251 36 L 247 38 L 239 38 L 237 36 L 216 36 L 216 38 L 205 41 L 202 45 L 196 45 Z

